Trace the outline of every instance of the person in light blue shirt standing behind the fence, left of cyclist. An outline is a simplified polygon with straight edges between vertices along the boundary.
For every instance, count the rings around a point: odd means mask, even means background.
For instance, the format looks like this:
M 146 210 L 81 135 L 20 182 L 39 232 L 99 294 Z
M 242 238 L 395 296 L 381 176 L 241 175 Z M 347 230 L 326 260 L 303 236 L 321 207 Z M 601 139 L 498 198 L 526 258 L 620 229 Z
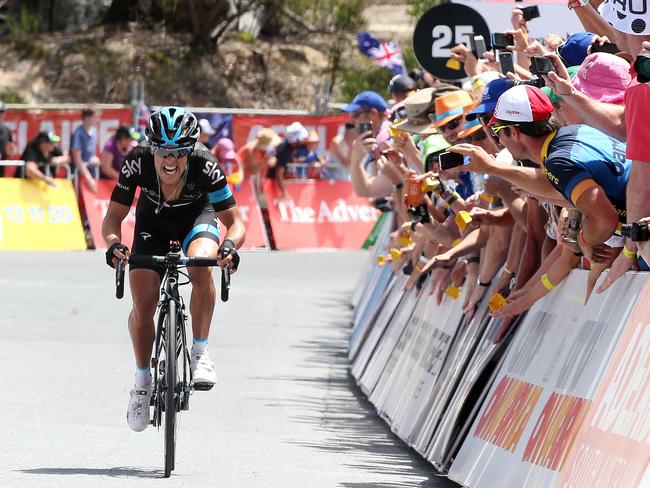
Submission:
M 71 170 L 83 177 L 88 188 L 93 193 L 97 192 L 95 179 L 89 171 L 99 171 L 99 158 L 95 154 L 97 150 L 97 114 L 91 108 L 81 111 L 81 125 L 72 133 L 70 139 L 70 159 L 73 166 Z

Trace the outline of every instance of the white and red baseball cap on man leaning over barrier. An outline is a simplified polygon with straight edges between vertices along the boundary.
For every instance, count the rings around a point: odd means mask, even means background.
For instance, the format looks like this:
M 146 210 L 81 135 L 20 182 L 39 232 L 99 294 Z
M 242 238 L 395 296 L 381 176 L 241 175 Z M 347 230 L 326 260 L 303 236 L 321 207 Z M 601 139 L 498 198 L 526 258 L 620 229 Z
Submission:
M 553 113 L 553 104 L 542 90 L 535 86 L 519 85 L 499 97 L 494 115 L 488 125 L 497 119 L 507 122 L 538 122 Z

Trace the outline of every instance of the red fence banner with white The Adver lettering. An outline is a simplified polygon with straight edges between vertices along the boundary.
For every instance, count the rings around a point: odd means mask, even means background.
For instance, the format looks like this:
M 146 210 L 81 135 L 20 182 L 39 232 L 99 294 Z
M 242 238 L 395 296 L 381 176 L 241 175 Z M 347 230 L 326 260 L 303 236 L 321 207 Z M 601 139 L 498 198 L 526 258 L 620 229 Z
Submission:
M 378 211 L 357 197 L 349 181 L 286 181 L 289 202 L 279 202 L 273 181 L 264 193 L 277 249 L 361 249 Z

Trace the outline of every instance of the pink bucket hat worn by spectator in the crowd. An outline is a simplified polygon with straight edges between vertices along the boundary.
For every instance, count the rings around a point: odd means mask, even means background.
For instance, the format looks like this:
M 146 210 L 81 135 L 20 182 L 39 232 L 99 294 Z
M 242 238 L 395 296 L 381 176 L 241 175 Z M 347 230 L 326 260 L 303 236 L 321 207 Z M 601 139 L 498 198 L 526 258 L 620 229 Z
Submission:
M 632 81 L 630 64 L 610 53 L 593 53 L 585 58 L 573 78 L 573 86 L 603 103 L 622 104 Z

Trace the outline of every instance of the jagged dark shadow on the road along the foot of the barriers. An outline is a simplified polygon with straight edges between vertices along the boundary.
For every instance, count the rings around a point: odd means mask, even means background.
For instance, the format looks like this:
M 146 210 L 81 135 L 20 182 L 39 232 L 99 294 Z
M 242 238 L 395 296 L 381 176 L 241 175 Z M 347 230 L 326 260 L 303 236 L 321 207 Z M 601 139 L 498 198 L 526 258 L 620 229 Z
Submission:
M 321 330 L 326 333 L 294 346 L 307 353 L 305 363 L 300 366 L 313 368 L 314 374 L 265 378 L 320 386 L 318 393 L 312 396 L 267 403 L 270 407 L 293 406 L 301 412 L 292 417 L 294 421 L 308 423 L 312 428 L 326 433 L 322 441 L 289 442 L 321 452 L 354 453 L 351 459 L 355 462 L 347 463 L 347 466 L 399 479 L 388 483 L 342 482 L 338 485 L 342 488 L 458 487 L 447 478 L 437 476 L 433 472 L 433 466 L 395 436 L 357 387 L 349 372 L 350 363 L 347 358 L 351 332 L 347 296 L 338 293 L 332 295 L 317 303 L 321 312 L 319 319 L 321 323 L 327 323 Z

